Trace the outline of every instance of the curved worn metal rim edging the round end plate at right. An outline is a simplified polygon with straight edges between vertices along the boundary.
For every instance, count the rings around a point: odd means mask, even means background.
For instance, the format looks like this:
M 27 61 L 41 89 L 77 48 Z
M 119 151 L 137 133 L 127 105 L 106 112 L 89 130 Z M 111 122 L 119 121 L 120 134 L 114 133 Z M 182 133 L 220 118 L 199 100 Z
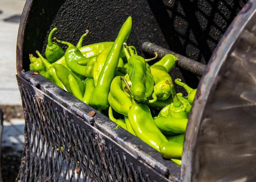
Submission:
M 255 19 L 255 9 L 256 3 L 251 0 L 239 12 L 217 45 L 201 78 L 185 134 L 181 167 L 181 179 L 183 181 L 193 180 L 192 175 L 195 165 L 194 158 L 197 148 L 198 132 L 204 119 L 203 114 L 209 109 L 206 105 L 209 101 L 209 96 L 213 94 L 218 78 L 223 74 L 219 73 L 219 71 L 228 62 L 228 55 L 241 32 L 244 30 L 244 27 L 252 19 L 253 15 Z

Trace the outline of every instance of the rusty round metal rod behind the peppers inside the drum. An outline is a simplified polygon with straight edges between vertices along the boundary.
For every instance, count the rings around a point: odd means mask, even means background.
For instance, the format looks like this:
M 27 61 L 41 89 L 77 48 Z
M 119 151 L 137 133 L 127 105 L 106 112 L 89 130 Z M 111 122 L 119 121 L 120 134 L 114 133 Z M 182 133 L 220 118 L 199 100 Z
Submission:
M 205 64 L 202 64 L 201 62 L 197 62 L 193 59 L 189 59 L 185 56 L 182 56 L 180 54 L 177 54 L 175 52 L 172 52 L 168 49 L 164 49 L 159 45 L 155 45 L 151 42 L 144 42 L 141 46 L 142 50 L 145 52 L 148 52 L 149 54 L 154 55 L 155 52 L 158 54 L 158 58 L 164 57 L 166 54 L 173 54 L 178 58 L 177 66 L 183 69 L 186 69 L 198 76 L 202 76 L 204 69 L 206 67 Z

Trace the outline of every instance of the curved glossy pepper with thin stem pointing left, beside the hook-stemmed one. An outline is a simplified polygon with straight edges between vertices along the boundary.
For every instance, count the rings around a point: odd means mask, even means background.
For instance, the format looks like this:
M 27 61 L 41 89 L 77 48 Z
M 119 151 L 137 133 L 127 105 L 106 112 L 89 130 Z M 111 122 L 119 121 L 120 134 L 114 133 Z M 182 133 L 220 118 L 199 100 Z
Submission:
M 87 58 L 73 44 L 71 44 L 69 42 L 57 40 L 55 37 L 54 37 L 54 40 L 69 46 L 65 52 L 65 62 L 67 64 L 67 66 L 76 74 L 85 76 L 86 66 L 81 66 L 81 65 L 77 64 L 77 62 L 82 61 Z

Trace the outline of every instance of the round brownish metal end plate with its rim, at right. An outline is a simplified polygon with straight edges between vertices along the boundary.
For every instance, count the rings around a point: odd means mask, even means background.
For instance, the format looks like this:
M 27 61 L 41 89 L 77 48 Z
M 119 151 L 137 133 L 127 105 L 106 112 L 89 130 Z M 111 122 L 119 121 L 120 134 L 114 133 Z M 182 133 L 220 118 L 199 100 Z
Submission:
M 202 112 L 198 112 L 202 111 Z M 184 181 L 256 181 L 256 1 L 219 42 L 189 116 Z

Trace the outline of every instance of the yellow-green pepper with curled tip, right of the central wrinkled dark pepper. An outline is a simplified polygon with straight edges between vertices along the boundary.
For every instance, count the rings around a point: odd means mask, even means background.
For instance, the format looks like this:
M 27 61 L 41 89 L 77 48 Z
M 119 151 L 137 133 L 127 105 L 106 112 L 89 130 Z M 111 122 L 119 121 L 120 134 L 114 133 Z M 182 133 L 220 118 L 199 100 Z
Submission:
M 171 76 L 162 70 L 155 69 L 151 67 L 151 73 L 154 78 L 154 92 L 152 94 L 153 99 L 149 100 L 149 103 L 155 102 L 158 100 L 168 99 L 171 94 L 171 88 L 169 83 L 172 82 Z

